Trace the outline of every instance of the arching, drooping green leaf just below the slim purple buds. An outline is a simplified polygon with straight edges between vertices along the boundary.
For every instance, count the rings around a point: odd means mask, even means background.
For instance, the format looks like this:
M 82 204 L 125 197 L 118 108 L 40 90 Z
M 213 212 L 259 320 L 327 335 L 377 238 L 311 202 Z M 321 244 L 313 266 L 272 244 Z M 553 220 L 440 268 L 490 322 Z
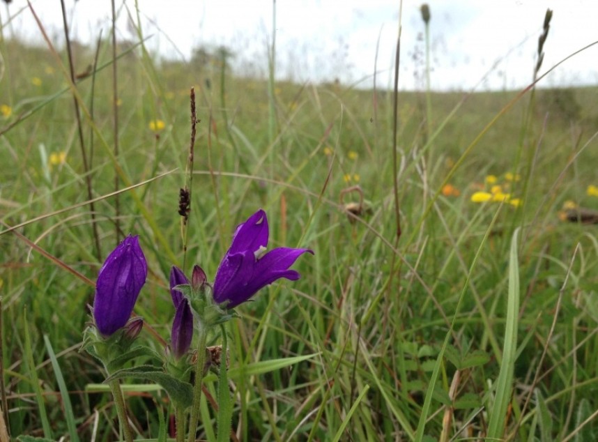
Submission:
M 146 379 L 159 383 L 168 393 L 170 399 L 176 406 L 181 406 L 183 409 L 191 406 L 193 403 L 193 386 L 188 382 L 179 381 L 171 374 L 164 373 L 153 365 L 139 365 L 139 367 L 123 368 L 114 372 L 109 376 L 104 383 L 109 383 L 115 379 L 123 379 L 127 377 Z

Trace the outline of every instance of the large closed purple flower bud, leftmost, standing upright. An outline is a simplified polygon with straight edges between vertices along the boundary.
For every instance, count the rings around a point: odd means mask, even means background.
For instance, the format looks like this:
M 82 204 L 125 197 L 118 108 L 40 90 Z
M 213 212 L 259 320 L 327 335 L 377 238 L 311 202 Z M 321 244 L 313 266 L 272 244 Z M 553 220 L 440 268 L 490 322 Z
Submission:
M 102 336 L 125 326 L 147 274 L 139 236 L 129 235 L 108 255 L 95 282 L 93 319 Z

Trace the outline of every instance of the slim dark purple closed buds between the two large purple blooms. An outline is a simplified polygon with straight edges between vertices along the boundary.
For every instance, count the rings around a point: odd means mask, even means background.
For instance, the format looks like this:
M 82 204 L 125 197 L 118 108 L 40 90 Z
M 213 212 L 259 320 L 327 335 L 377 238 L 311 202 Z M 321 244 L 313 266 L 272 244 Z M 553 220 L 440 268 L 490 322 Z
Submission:
M 181 291 L 175 290 L 178 285 L 189 284 L 183 270 L 176 266 L 170 269 L 170 295 L 176 309 L 170 335 L 171 348 L 175 359 L 180 359 L 191 346 L 193 337 L 193 314 L 189 301 Z

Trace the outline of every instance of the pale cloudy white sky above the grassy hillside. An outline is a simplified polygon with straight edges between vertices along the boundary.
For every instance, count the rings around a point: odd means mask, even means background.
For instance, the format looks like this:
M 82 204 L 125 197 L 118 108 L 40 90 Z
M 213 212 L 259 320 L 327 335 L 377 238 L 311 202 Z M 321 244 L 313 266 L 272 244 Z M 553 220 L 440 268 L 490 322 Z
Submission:
M 275 41 L 277 79 L 332 82 L 371 88 L 392 85 L 401 24 L 399 88 L 425 87 L 422 1 L 404 0 L 116 0 L 117 36 L 135 39 L 130 17 L 137 6 L 148 47 L 163 58 L 188 61 L 194 47 L 226 45 L 233 67 L 246 75 L 267 72 Z M 522 89 L 532 80 L 546 8 L 553 9 L 540 73 L 598 41 L 595 0 L 428 1 L 431 88 L 438 91 Z M 32 0 L 43 25 L 61 42 L 59 0 Z M 65 0 L 71 36 L 93 43 L 109 35 L 110 1 Z M 275 8 L 273 7 L 275 4 Z M 26 0 L 0 8 L 3 35 L 42 44 Z M 275 20 L 273 20 L 275 17 Z M 576 54 L 539 86 L 598 83 L 598 45 Z

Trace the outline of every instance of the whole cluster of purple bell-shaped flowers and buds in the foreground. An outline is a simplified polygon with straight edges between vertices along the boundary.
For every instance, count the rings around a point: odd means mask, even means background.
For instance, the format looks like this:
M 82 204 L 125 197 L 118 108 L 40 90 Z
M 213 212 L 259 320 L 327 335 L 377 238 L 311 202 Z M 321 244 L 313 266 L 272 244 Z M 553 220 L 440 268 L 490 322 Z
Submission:
M 309 249 L 278 247 L 266 252 L 268 218 L 259 210 L 240 224 L 231 247 L 224 255 L 212 286 L 206 274 L 194 266 L 191 282 L 183 271 L 172 266 L 170 294 L 175 307 L 171 329 L 171 352 L 178 360 L 190 348 L 193 329 L 229 319 L 228 312 L 249 300 L 257 291 L 280 278 L 298 280 L 290 270 Z M 133 306 L 147 277 L 147 264 L 138 236 L 128 236 L 109 254 L 98 275 L 93 304 L 95 327 L 109 337 L 127 325 Z

